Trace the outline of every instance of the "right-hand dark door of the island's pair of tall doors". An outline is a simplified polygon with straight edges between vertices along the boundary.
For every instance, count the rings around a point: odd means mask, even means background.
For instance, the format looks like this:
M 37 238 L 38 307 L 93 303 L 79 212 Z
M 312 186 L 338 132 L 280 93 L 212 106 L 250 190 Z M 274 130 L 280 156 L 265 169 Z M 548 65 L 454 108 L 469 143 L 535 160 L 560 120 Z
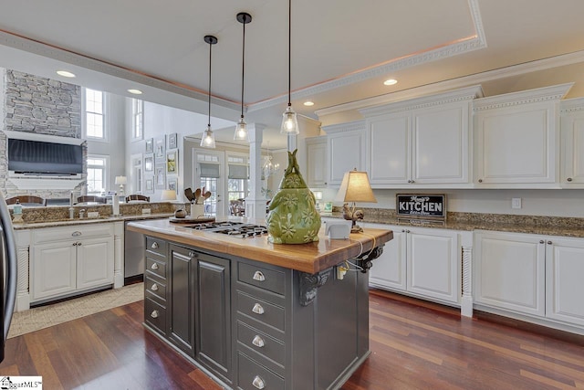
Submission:
M 228 380 L 231 372 L 230 262 L 199 254 L 196 359 Z

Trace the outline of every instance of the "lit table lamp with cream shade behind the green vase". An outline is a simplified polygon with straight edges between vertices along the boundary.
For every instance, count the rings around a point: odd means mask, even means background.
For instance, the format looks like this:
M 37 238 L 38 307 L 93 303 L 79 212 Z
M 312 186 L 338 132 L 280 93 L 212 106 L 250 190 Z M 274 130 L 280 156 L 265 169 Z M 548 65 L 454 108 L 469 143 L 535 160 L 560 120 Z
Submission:
M 355 202 L 373 202 L 377 203 L 371 185 L 369 184 L 369 176 L 367 172 L 353 171 L 345 173 L 343 181 L 340 184 L 339 192 L 335 196 L 336 202 L 343 202 L 343 217 L 349 221 L 353 221 L 350 229 L 351 233 L 360 233 L 363 228 L 357 225 L 357 220 L 363 219 L 363 211 L 356 210 Z M 349 207 L 349 202 L 352 205 Z

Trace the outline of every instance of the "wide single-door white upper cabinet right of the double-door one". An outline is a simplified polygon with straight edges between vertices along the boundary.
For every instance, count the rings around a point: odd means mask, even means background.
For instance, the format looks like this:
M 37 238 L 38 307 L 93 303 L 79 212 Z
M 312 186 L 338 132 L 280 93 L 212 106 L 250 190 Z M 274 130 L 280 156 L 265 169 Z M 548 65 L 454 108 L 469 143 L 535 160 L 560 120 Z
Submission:
M 571 86 L 474 100 L 477 187 L 558 187 L 559 100 Z

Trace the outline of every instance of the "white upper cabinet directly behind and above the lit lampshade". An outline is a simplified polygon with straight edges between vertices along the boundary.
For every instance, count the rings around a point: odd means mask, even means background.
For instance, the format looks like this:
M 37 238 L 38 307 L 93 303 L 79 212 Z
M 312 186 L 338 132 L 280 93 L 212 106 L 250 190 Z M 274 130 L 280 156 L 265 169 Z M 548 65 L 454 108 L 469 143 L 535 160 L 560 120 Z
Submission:
M 365 169 L 365 121 L 323 126 L 327 133 L 328 184 L 340 185 L 346 172 Z

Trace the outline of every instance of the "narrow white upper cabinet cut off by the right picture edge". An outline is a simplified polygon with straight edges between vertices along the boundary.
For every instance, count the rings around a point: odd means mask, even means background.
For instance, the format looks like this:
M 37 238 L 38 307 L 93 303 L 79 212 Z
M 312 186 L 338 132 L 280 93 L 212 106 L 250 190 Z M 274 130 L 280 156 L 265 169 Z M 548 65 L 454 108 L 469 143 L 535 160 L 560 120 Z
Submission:
M 584 188 L 584 99 L 560 102 L 561 108 L 561 184 Z

